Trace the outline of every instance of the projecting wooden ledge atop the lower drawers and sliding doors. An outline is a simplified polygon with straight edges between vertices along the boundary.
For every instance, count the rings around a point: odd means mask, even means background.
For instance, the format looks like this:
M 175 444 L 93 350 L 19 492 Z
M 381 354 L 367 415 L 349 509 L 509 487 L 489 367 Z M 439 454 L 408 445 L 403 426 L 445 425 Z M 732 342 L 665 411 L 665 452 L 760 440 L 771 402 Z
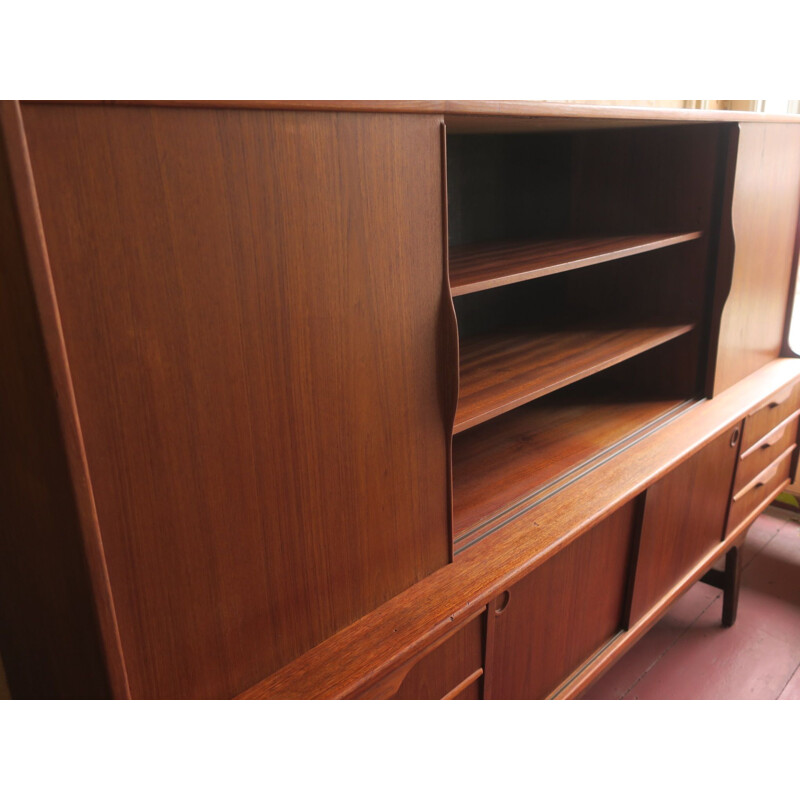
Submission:
M 586 530 L 738 424 L 765 395 L 800 380 L 776 359 L 689 409 L 559 494 L 469 548 L 453 564 L 243 692 L 244 699 L 344 697 L 412 658 Z M 758 509 L 757 509 L 758 510 Z M 735 535 L 735 534 L 734 534 Z M 720 545 L 722 547 L 722 543 Z M 699 576 L 698 576 L 699 577 Z

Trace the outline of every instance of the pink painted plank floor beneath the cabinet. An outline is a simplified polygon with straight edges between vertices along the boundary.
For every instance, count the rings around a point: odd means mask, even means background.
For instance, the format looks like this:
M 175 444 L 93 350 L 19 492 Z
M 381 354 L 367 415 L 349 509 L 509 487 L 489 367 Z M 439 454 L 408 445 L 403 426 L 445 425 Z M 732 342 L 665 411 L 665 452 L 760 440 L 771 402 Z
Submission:
M 732 628 L 722 592 L 698 583 L 584 699 L 800 700 L 800 517 L 770 508 L 742 555 Z

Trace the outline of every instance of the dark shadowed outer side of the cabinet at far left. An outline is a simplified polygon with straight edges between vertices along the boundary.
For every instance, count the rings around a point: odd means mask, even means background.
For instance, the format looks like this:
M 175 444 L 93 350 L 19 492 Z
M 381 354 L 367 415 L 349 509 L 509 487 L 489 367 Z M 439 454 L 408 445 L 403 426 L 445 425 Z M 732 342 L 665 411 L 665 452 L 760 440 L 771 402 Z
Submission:
M 110 696 L 0 135 L 0 653 L 12 696 Z

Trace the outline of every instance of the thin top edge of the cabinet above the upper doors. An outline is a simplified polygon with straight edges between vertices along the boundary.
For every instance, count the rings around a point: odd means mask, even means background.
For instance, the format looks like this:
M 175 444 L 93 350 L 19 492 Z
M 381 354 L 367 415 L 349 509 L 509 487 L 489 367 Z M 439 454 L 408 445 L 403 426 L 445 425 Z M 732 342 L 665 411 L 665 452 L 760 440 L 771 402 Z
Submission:
M 28 103 L 143 106 L 166 108 L 262 109 L 272 111 L 360 111 L 442 115 L 458 126 L 463 117 L 583 119 L 628 123 L 782 122 L 800 123 L 800 115 L 689 108 L 601 106 L 542 100 L 23 100 Z

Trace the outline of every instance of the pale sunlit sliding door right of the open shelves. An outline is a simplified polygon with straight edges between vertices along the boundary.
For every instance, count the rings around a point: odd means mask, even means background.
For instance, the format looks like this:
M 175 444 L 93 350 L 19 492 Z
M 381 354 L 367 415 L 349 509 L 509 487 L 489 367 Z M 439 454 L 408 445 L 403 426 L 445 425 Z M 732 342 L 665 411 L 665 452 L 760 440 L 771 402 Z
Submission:
M 799 207 L 800 129 L 743 123 L 733 188 L 733 281 L 722 312 L 715 394 L 780 355 Z

